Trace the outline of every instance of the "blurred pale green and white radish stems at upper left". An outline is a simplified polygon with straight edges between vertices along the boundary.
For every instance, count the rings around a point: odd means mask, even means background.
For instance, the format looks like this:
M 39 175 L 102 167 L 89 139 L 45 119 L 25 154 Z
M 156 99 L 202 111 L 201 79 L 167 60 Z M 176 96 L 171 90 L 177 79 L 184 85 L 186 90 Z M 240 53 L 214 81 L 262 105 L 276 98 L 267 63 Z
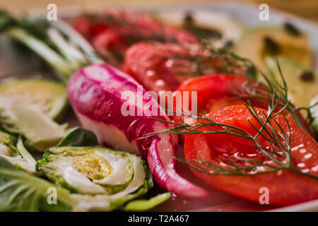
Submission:
M 16 19 L 0 11 L 0 30 L 40 55 L 64 82 L 81 66 L 102 62 L 93 47 L 61 20 Z

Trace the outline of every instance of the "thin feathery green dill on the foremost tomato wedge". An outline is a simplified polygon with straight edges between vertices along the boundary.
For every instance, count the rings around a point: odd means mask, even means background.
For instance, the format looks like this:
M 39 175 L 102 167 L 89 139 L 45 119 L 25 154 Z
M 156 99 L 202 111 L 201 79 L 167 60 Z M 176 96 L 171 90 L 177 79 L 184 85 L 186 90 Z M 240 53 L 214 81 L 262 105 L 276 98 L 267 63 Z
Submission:
M 310 177 L 312 179 L 317 179 L 318 177 L 313 174 L 308 174 L 302 172 L 300 169 L 293 167 L 292 165 L 292 157 L 290 154 L 290 125 L 288 120 L 285 118 L 286 123 L 288 124 L 288 132 L 286 133 L 283 128 L 278 124 L 278 122 L 273 119 L 277 114 L 281 113 L 283 109 L 287 107 L 285 105 L 278 112 L 275 112 L 278 103 L 280 102 L 280 95 L 274 94 L 273 100 L 271 101 L 271 105 L 269 105 L 269 109 L 267 115 L 265 112 L 257 112 L 251 102 L 249 104 L 245 104 L 249 112 L 252 114 L 252 117 L 257 120 L 257 123 L 261 126 L 261 129 L 257 129 L 256 126 L 249 121 L 249 124 L 254 128 L 257 132 L 256 135 L 252 135 L 247 131 L 240 129 L 237 126 L 232 126 L 229 124 L 221 124 L 216 121 L 212 121 L 208 119 L 204 112 L 200 109 L 202 116 L 194 117 L 187 113 L 182 113 L 185 117 L 192 117 L 194 119 L 201 119 L 204 121 L 200 121 L 198 124 L 185 124 L 183 123 L 173 123 L 169 121 L 165 121 L 167 123 L 173 124 L 174 127 L 170 129 L 165 129 L 163 131 L 158 131 L 154 133 L 148 133 L 143 138 L 148 138 L 151 136 L 158 135 L 160 133 L 176 133 L 176 134 L 228 134 L 232 136 L 237 136 L 240 138 L 246 138 L 251 141 L 256 147 L 257 150 L 263 153 L 266 160 L 270 160 L 273 164 L 266 164 L 264 162 L 253 158 L 240 157 L 237 155 L 232 155 L 229 157 L 220 157 L 218 158 L 218 162 L 221 163 L 222 166 L 217 165 L 213 162 L 207 162 L 204 160 L 181 160 L 189 167 L 196 169 L 199 172 L 204 172 L 207 174 L 217 174 L 217 175 L 232 175 L 232 176 L 249 176 L 255 174 L 264 174 L 269 172 L 278 172 L 280 170 L 289 169 L 295 173 L 302 174 L 303 176 Z M 177 113 L 177 112 L 176 112 Z M 261 119 L 261 115 L 265 117 L 265 121 Z M 155 118 L 153 118 L 155 119 Z M 160 120 L 160 119 L 155 119 Z M 161 120 L 160 120 L 161 121 Z M 278 129 L 274 129 L 274 126 L 278 126 Z M 208 131 L 202 131 L 202 128 L 207 128 Z M 216 129 L 217 128 L 217 129 Z M 288 135 L 289 134 L 289 135 Z M 268 150 L 264 148 L 257 138 L 262 137 L 265 138 L 266 141 L 269 141 L 271 149 Z M 274 148 L 275 147 L 275 148 Z

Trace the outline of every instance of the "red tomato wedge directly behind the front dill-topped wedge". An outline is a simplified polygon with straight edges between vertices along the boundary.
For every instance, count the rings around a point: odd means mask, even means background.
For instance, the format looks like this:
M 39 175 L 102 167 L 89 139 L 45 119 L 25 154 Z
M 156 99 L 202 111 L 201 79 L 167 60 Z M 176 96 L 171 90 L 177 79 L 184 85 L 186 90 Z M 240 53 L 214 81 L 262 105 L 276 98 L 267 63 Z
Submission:
M 186 106 L 191 106 L 193 102 L 192 98 L 178 98 L 178 93 L 196 92 L 197 99 L 196 105 L 205 114 L 209 112 L 216 112 L 223 107 L 231 105 L 240 105 L 247 102 L 252 102 L 255 107 L 261 107 L 266 109 L 269 104 L 267 102 L 268 97 L 273 97 L 270 85 L 274 85 L 275 81 L 267 78 L 267 86 L 265 83 L 259 83 L 257 81 L 249 80 L 245 76 L 239 75 L 224 75 L 218 74 L 216 76 L 201 76 L 191 78 L 188 81 L 182 83 L 178 90 L 174 94 L 174 111 L 182 112 L 182 106 L 186 101 Z M 284 95 L 285 91 L 276 90 L 280 95 Z M 281 106 L 285 105 L 288 100 L 281 99 Z M 277 107 L 281 109 L 281 106 Z M 190 109 L 192 110 L 192 109 Z M 199 111 L 198 114 L 201 114 Z M 299 112 L 295 112 L 295 108 L 290 105 L 281 114 L 293 117 L 297 121 L 298 125 L 307 133 L 313 136 L 312 129 Z M 173 115 L 175 122 L 180 123 L 186 121 L 191 123 L 191 118 L 178 114 Z M 184 139 L 184 135 L 181 137 Z

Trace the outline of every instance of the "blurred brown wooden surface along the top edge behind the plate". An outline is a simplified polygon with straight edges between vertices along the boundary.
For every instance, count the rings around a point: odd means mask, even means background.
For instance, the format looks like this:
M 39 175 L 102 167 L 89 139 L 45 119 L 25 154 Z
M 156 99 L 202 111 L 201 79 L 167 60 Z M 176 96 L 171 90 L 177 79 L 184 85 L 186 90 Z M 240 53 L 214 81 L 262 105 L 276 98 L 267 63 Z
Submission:
M 225 0 L 228 1 L 228 0 Z M 225 2 L 224 0 L 222 2 Z M 266 3 L 270 8 L 278 8 L 293 13 L 302 18 L 318 23 L 318 0 L 231 0 L 232 2 Z M 145 5 L 189 5 L 216 2 L 215 0 L 1 0 L 0 7 L 9 11 L 21 12 L 30 9 L 45 9 L 47 4 L 54 3 L 61 6 L 78 6 L 90 8 L 96 6 L 145 6 Z

